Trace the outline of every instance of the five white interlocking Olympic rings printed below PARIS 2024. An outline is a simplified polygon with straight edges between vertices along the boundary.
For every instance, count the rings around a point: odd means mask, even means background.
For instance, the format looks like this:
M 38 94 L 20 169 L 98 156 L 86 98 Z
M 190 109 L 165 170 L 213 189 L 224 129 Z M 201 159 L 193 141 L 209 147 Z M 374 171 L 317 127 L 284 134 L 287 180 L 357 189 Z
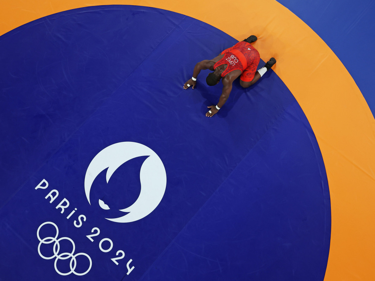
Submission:
M 55 229 L 56 229 L 56 235 L 55 235 L 55 237 L 51 237 L 51 236 L 49 236 L 49 237 L 46 237 L 46 238 L 40 239 L 40 236 L 39 236 L 39 230 L 40 230 L 40 228 L 41 228 L 42 226 L 44 226 L 45 224 L 52 224 L 52 226 L 55 227 Z M 56 224 L 52 223 L 51 221 L 46 221 L 45 223 L 40 224 L 40 226 L 39 226 L 39 228 L 38 228 L 38 230 L 37 230 L 37 232 L 36 232 L 36 236 L 38 237 L 38 239 L 39 239 L 39 241 L 40 241 L 39 246 L 38 246 L 38 253 L 39 253 L 39 256 L 42 257 L 42 258 L 45 259 L 45 260 L 50 260 L 50 259 L 56 258 L 56 259 L 55 259 L 55 270 L 56 270 L 56 272 L 57 272 L 58 274 L 60 274 L 60 275 L 69 275 L 69 274 L 71 274 L 71 273 L 74 273 L 75 275 L 85 275 L 87 272 L 90 271 L 91 266 L 92 266 L 92 261 L 91 261 L 90 256 L 89 256 L 88 254 L 86 254 L 86 253 L 78 253 L 78 254 L 74 254 L 74 251 L 75 251 L 75 244 L 74 244 L 74 242 L 73 242 L 73 240 L 72 240 L 71 238 L 69 238 L 69 237 L 62 237 L 62 238 L 58 238 L 58 239 L 57 239 L 57 237 L 58 237 L 58 227 L 57 227 Z M 61 254 L 58 253 L 58 252 L 60 251 L 60 243 L 59 243 L 59 242 L 62 241 L 62 240 L 68 240 L 68 241 L 70 241 L 70 242 L 72 243 L 72 246 L 73 246 L 73 247 L 72 247 L 72 252 L 71 252 L 71 253 L 61 253 Z M 53 253 L 54 253 L 54 255 L 51 256 L 51 257 L 45 257 L 45 256 L 43 256 L 42 253 L 40 253 L 40 246 L 41 246 L 42 244 L 51 244 L 52 242 L 55 242 L 54 245 L 53 245 Z M 87 271 L 85 271 L 85 272 L 83 272 L 83 273 L 78 273 L 78 272 L 75 272 L 75 271 L 74 271 L 75 268 L 76 268 L 76 266 L 77 266 L 77 261 L 76 261 L 76 259 L 75 259 L 77 256 L 86 256 L 86 257 L 89 259 L 89 261 L 90 261 L 90 266 L 89 266 L 89 269 L 87 269 Z M 71 258 L 71 261 L 70 261 L 70 263 L 69 263 L 69 267 L 70 267 L 71 271 L 66 272 L 66 273 L 60 272 L 60 271 L 57 269 L 57 261 L 58 261 L 58 260 L 66 260 L 66 259 L 69 259 L 69 258 Z

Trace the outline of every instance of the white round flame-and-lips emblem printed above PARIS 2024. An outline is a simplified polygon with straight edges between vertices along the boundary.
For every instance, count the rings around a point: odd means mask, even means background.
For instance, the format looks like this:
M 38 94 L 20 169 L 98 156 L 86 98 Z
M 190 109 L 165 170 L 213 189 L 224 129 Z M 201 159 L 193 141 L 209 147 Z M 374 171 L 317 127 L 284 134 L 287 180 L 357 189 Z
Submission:
M 165 168 L 159 156 L 152 149 L 136 142 L 118 142 L 107 146 L 89 164 L 84 182 L 87 200 L 90 205 L 99 204 L 101 209 L 110 210 L 111 205 L 102 199 L 99 199 L 97 202 L 91 202 L 90 191 L 92 190 L 93 182 L 99 174 L 107 169 L 105 180 L 108 184 L 111 176 L 121 165 L 142 156 L 145 160 L 139 171 L 140 192 L 138 198 L 129 207 L 118 210 L 126 214 L 116 218 L 106 217 L 107 220 L 117 223 L 130 223 L 150 214 L 159 205 L 165 192 Z M 135 176 L 138 177 L 138 175 Z M 121 187 L 119 190 L 121 192 Z

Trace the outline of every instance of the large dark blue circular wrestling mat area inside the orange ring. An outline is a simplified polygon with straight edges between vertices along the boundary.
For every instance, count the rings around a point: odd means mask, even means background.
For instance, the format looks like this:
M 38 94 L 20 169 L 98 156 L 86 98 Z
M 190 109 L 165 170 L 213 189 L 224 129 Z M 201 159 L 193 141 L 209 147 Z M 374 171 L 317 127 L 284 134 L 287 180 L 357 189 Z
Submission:
M 138 6 L 0 37 L 0 280 L 323 280 L 327 176 L 288 88 L 237 80 L 213 118 L 221 83 L 183 89 L 236 42 Z

